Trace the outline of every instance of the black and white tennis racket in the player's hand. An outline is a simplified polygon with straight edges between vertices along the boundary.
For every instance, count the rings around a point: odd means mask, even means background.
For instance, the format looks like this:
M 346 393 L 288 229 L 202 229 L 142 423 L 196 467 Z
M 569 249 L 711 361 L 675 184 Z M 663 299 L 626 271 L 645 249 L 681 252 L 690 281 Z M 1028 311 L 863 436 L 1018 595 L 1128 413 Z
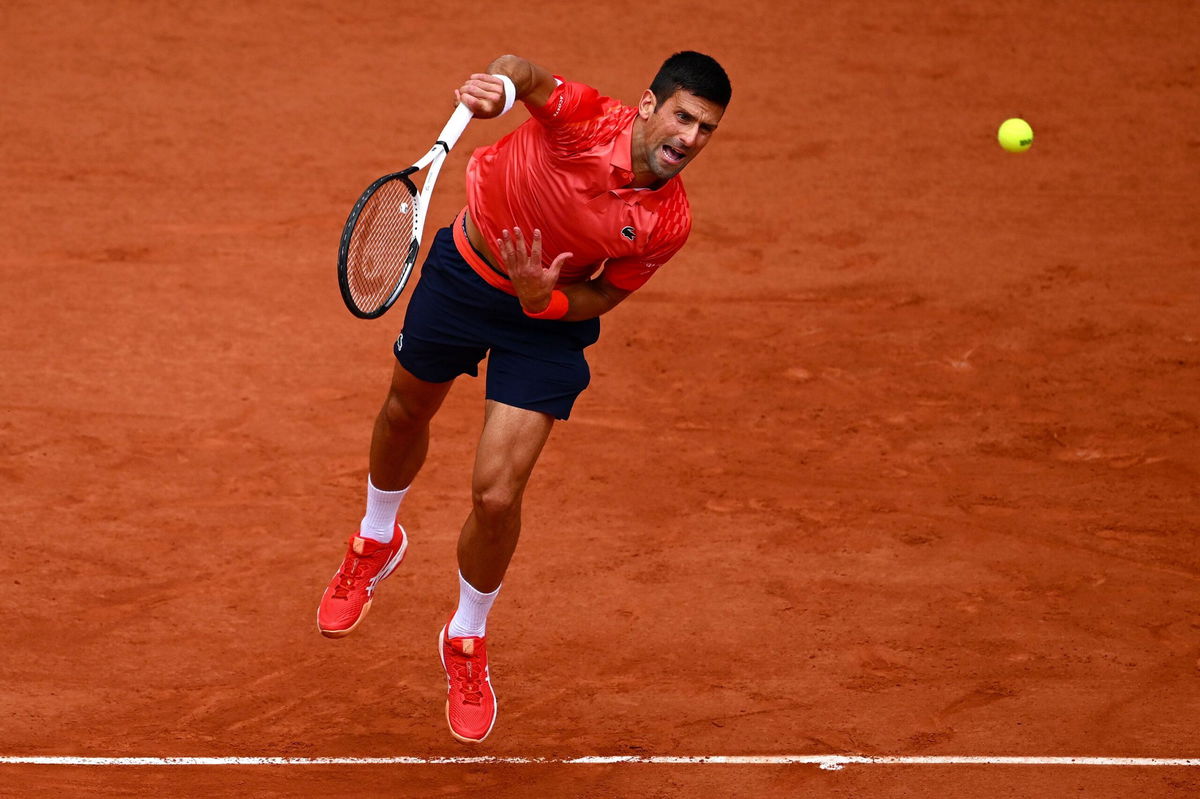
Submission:
M 360 319 L 383 316 L 404 290 L 421 248 L 425 212 L 442 163 L 470 118 L 470 109 L 460 103 L 437 144 L 420 161 L 367 186 L 350 209 L 337 251 L 337 283 L 346 307 Z M 428 174 L 418 191 L 413 178 L 426 168 Z

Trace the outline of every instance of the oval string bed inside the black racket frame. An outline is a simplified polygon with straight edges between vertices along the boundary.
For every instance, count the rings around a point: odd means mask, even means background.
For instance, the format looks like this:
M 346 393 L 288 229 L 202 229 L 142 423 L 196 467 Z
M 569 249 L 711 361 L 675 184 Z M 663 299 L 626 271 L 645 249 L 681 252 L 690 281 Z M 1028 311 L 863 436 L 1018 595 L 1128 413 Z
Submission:
M 403 180 L 380 186 L 359 211 L 347 252 L 347 284 L 365 312 L 383 306 L 396 289 L 416 227 L 416 196 Z

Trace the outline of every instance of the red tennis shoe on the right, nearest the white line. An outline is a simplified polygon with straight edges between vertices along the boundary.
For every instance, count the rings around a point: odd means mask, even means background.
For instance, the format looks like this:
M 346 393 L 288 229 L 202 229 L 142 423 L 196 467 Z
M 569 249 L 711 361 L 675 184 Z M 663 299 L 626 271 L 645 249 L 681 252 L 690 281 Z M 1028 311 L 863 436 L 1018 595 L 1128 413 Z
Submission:
M 450 638 L 442 627 L 438 650 L 446 672 L 446 722 L 450 734 L 464 744 L 478 744 L 496 723 L 496 693 L 487 672 L 484 638 Z

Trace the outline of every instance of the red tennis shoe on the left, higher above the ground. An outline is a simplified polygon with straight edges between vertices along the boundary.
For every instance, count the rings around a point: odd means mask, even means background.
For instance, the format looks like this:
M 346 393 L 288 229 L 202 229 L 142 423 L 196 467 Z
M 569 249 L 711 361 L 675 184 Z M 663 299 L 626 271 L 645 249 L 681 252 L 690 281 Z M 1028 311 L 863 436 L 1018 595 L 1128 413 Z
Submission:
M 404 559 L 408 536 L 396 524 L 391 542 L 379 543 L 358 535 L 350 536 L 346 559 L 334 575 L 317 607 L 317 629 L 328 638 L 348 636 L 371 609 L 379 582 Z

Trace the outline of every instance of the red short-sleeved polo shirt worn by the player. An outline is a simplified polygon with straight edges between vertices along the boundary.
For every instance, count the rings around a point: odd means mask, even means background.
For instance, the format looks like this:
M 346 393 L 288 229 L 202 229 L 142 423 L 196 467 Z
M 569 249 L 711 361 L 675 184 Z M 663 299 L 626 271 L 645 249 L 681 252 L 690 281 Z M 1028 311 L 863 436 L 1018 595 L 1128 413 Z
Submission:
M 467 163 L 467 208 L 491 254 L 499 263 L 494 241 L 503 229 L 520 227 L 529 241 L 538 228 L 545 264 L 575 253 L 563 264 L 560 286 L 586 281 L 604 264 L 618 288 L 641 287 L 688 240 L 691 210 L 678 176 L 655 190 L 624 188 L 634 179 L 637 109 L 570 82 L 544 107 L 527 108 L 533 119 Z M 463 250 L 464 236 L 458 240 Z M 512 293 L 474 253 L 463 254 L 485 280 Z

